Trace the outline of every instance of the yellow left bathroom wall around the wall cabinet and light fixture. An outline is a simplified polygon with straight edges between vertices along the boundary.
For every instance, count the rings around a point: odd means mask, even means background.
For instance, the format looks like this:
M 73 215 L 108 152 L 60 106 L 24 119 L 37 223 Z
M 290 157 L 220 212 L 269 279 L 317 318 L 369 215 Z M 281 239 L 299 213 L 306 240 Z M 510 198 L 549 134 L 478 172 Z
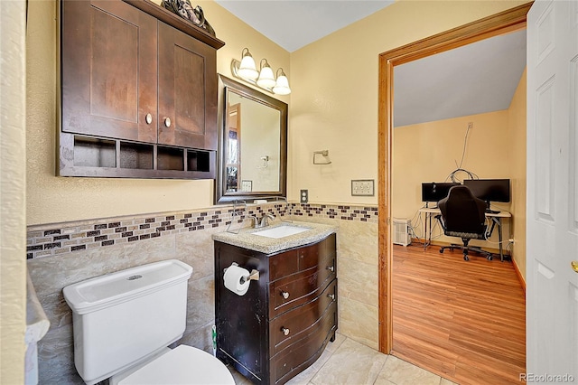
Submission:
M 157 1 L 157 4 L 160 1 Z M 276 70 L 291 72 L 290 55 L 217 3 L 200 1 L 205 16 L 226 45 L 217 52 L 217 70 L 229 78 L 230 62 L 248 47 L 256 61 L 266 57 Z M 29 225 L 144 212 L 210 207 L 209 181 L 56 177 L 57 3 L 29 2 L 27 223 Z M 289 75 L 290 76 L 290 75 Z M 290 77 L 291 79 L 291 77 Z M 279 97 L 288 103 L 290 96 Z

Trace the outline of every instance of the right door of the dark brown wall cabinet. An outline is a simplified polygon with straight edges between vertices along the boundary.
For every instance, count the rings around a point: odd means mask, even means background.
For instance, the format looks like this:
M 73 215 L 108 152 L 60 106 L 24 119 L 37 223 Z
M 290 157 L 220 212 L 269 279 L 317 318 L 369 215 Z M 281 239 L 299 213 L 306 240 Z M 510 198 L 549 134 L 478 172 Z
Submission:
M 217 150 L 216 56 L 159 22 L 159 144 Z

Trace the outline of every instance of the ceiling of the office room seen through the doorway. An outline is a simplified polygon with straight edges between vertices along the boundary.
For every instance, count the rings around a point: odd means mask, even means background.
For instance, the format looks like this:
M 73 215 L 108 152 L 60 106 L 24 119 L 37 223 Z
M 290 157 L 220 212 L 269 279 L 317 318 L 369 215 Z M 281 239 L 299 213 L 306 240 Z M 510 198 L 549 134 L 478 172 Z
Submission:
M 526 30 L 394 67 L 394 127 L 508 109 L 526 68 Z

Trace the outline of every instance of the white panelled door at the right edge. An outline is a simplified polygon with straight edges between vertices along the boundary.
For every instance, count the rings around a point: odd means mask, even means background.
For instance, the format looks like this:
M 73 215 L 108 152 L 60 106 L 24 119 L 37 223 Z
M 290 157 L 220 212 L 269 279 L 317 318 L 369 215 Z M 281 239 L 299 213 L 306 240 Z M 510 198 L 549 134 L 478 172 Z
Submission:
M 577 0 L 527 15 L 528 382 L 578 383 L 577 25 Z

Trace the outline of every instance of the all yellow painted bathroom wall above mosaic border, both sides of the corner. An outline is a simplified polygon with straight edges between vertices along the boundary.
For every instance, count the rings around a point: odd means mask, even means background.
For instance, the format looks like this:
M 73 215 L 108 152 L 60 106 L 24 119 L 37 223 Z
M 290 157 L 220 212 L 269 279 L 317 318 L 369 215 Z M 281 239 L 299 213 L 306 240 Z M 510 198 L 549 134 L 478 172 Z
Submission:
M 230 61 L 248 47 L 256 60 L 283 67 L 290 103 L 289 199 L 310 190 L 310 202 L 377 203 L 352 197 L 351 179 L 378 173 L 378 54 L 408 42 L 496 14 L 522 1 L 400 1 L 289 54 L 212 1 L 198 2 L 227 43 L 218 51 L 218 71 L 230 76 Z M 208 207 L 212 181 L 121 180 L 54 176 L 58 129 L 56 89 L 57 5 L 30 2 L 27 41 L 27 222 L 39 224 Z M 313 165 L 312 152 L 328 149 L 332 163 Z

